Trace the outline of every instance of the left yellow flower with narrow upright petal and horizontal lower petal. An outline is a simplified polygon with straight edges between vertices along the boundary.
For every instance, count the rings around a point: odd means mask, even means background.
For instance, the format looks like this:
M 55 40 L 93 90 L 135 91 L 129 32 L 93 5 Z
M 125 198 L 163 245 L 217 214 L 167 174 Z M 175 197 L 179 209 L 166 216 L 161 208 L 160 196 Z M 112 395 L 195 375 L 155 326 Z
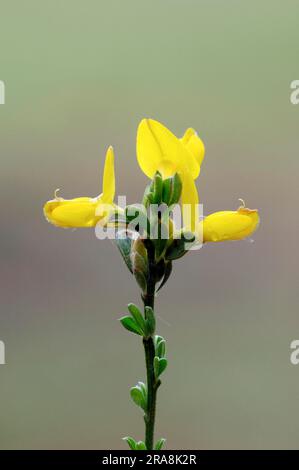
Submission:
M 104 224 L 113 210 L 115 195 L 114 153 L 109 147 L 103 175 L 103 192 L 95 198 L 63 199 L 56 196 L 46 202 L 44 214 L 48 222 L 64 228 L 95 227 Z

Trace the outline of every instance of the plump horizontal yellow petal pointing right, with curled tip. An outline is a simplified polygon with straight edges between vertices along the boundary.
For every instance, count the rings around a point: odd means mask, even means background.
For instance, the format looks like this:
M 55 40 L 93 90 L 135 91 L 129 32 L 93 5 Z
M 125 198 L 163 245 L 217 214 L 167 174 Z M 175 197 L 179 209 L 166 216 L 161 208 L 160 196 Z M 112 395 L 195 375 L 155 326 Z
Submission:
M 237 211 L 220 211 L 208 215 L 202 224 L 204 242 L 242 240 L 257 229 L 259 214 L 257 210 L 240 207 Z

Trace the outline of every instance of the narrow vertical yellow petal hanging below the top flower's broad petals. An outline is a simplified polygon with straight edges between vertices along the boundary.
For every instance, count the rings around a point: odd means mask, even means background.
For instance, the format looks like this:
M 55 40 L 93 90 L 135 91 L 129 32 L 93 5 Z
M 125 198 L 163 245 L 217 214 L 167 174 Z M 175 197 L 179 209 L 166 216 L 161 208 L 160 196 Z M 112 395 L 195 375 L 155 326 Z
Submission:
M 184 227 L 186 230 L 191 230 L 192 232 L 194 232 L 198 223 L 198 219 L 199 219 L 199 212 L 198 212 L 199 198 L 198 198 L 197 188 L 189 172 L 180 174 L 180 177 L 183 183 L 181 204 L 182 204 Z

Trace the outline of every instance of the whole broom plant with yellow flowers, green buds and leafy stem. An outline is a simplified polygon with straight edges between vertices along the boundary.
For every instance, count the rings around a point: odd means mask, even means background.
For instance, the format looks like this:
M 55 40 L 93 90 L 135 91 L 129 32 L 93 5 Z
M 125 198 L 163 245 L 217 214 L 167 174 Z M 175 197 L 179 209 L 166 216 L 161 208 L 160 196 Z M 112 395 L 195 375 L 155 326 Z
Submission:
M 120 319 L 128 331 L 142 337 L 145 351 L 146 382 L 138 382 L 130 391 L 144 413 L 145 439 L 124 438 L 134 450 L 160 450 L 165 441 L 154 441 L 157 391 L 168 364 L 165 339 L 156 334 L 154 301 L 171 275 L 173 262 L 208 242 L 246 238 L 259 224 L 258 211 L 244 203 L 236 211 L 200 217 L 195 180 L 204 154 L 204 144 L 193 129 L 177 138 L 161 123 L 143 119 L 137 132 L 137 160 L 150 182 L 141 204 L 115 204 L 114 153 L 109 147 L 99 196 L 63 199 L 55 191 L 54 199 L 44 205 L 45 217 L 58 227 L 96 227 L 107 233 L 112 229 L 140 287 L 143 313 L 130 303 L 129 315 Z

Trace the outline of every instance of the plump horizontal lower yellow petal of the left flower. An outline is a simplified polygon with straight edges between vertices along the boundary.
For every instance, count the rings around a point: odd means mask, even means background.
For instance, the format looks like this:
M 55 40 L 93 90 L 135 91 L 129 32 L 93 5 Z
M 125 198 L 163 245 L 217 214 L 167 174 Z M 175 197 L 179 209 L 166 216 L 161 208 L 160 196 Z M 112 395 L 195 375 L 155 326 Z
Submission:
M 45 204 L 44 214 L 50 223 L 58 227 L 94 227 L 99 221 L 99 217 L 95 214 L 97 205 L 96 198 L 57 198 Z

